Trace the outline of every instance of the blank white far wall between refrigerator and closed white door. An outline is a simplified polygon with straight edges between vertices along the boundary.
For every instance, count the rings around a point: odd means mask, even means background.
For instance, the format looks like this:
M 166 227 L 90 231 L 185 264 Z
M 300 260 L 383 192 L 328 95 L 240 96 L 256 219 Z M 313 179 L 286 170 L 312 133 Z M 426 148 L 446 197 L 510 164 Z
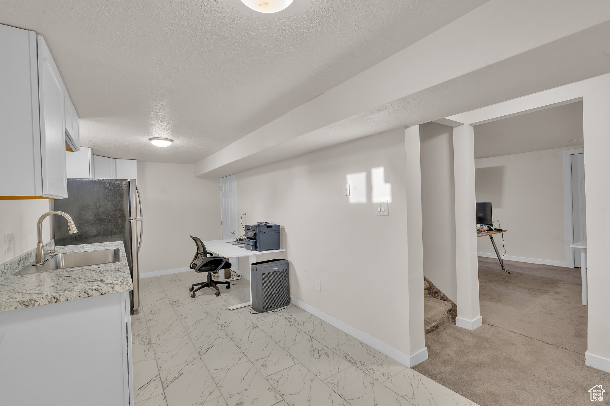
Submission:
M 188 267 L 189 236 L 220 239 L 220 182 L 193 177 L 191 164 L 138 161 L 144 228 L 140 273 Z

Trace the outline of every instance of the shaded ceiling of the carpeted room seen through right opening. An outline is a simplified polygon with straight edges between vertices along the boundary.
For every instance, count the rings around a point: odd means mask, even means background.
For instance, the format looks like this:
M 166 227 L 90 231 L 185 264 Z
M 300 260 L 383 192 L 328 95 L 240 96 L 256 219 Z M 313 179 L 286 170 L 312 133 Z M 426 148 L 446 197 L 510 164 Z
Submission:
M 583 144 L 576 139 L 583 139 L 583 102 L 475 125 L 475 158 Z

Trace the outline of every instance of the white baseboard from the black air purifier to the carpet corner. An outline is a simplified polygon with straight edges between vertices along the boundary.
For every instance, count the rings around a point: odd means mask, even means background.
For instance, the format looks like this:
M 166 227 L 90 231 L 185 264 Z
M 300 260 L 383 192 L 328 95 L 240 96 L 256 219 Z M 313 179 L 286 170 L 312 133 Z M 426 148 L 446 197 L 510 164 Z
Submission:
M 412 355 L 405 354 L 404 352 L 393 348 L 392 346 L 387 345 L 383 341 L 378 340 L 375 337 L 371 337 L 370 335 L 362 332 L 355 327 L 350 326 L 350 324 L 343 323 L 343 321 L 332 317 L 331 315 L 326 314 L 325 312 L 316 309 L 314 306 L 310 306 L 309 304 L 296 299 L 293 296 L 290 296 L 291 303 L 295 306 L 301 307 L 301 309 L 306 310 L 309 313 L 312 313 L 315 317 L 320 318 L 321 320 L 326 321 L 328 324 L 332 324 L 332 326 L 337 327 L 339 330 L 346 332 L 347 334 L 352 335 L 354 338 L 362 341 L 363 343 L 370 345 L 375 348 L 377 351 L 382 354 L 386 354 L 388 357 L 397 360 L 403 365 L 411 368 L 412 366 L 417 365 L 418 363 L 425 361 L 428 359 L 428 348 L 424 347 L 419 351 L 415 352 Z

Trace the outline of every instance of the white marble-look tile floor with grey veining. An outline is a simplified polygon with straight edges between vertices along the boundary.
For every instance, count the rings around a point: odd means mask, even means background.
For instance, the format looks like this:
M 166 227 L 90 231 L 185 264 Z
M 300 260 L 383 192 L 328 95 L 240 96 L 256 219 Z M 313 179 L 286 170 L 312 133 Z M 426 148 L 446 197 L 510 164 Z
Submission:
M 292 304 L 229 310 L 249 297 L 188 287 L 193 271 L 140 280 L 132 317 L 136 406 L 475 405 Z

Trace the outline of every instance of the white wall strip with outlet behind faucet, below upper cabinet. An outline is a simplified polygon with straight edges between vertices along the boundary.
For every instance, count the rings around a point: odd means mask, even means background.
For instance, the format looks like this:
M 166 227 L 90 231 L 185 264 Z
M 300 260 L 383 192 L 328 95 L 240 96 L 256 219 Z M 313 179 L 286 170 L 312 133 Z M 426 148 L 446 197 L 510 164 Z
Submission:
M 36 248 L 36 225 L 41 215 L 49 211 L 47 199 L 0 200 L 0 264 Z M 49 219 L 43 222 L 43 242 L 49 240 Z M 15 234 L 15 248 L 4 252 L 4 234 Z

